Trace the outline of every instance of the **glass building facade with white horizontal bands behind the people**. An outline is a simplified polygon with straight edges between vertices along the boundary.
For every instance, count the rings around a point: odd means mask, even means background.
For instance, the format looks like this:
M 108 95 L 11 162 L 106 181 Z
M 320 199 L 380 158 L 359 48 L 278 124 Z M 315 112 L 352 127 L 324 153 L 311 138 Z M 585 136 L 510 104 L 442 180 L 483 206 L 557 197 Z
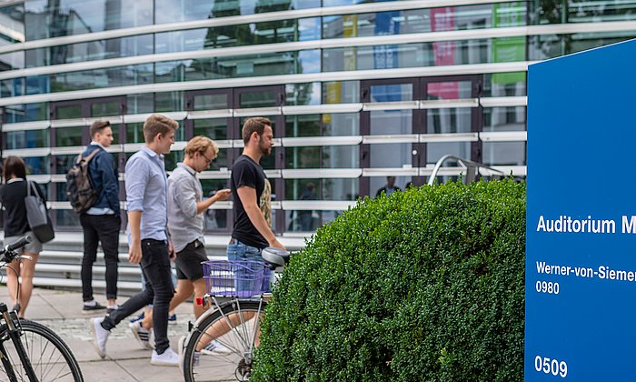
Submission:
M 74 231 L 65 172 L 95 119 L 114 126 L 120 173 L 150 113 L 181 126 L 168 170 L 210 136 L 211 195 L 243 120 L 268 116 L 272 225 L 303 236 L 387 176 L 424 184 L 446 154 L 525 176 L 528 65 L 635 36 L 636 0 L 4 2 L 2 157 L 25 158 L 57 229 Z M 229 234 L 231 206 L 206 212 L 208 234 Z

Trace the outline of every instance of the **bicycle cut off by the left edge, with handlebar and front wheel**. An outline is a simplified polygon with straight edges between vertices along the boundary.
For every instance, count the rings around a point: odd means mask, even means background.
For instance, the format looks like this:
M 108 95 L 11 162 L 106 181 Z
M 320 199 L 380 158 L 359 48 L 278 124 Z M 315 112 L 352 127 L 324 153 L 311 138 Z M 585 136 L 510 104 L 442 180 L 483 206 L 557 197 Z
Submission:
M 31 256 L 20 256 L 15 252 L 30 241 L 31 238 L 25 236 L 0 250 L 0 267 L 23 258 L 31 259 Z M 0 302 L 1 379 L 11 382 L 84 381 L 75 356 L 62 338 L 42 324 L 19 319 L 18 310 L 19 307 L 9 309 Z

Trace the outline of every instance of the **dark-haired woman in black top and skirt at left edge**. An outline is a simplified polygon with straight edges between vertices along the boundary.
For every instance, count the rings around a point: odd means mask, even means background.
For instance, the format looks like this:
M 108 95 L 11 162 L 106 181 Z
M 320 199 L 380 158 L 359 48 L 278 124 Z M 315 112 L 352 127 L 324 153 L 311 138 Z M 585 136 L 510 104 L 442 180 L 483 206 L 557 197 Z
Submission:
M 0 203 L 3 206 L 3 216 L 5 218 L 5 245 L 12 244 L 24 236 L 31 236 L 31 243 L 18 249 L 18 252 L 33 257 L 33 260 L 24 259 L 7 265 L 7 283 L 9 294 L 15 298 L 18 292 L 18 277 L 22 277 L 19 286 L 18 300 L 15 304 L 20 304 L 19 317 L 25 317 L 26 306 L 29 304 L 31 292 L 33 291 L 33 276 L 35 273 L 35 263 L 42 251 L 42 243 L 31 232 L 31 227 L 26 219 L 25 196 L 26 186 L 31 182 L 26 182 L 25 161 L 19 156 L 9 156 L 5 159 L 3 168 L 5 186 L 0 188 Z M 45 193 L 42 188 L 32 183 L 39 196 L 45 200 Z M 32 191 L 33 193 L 33 191 Z M 46 200 L 45 200 L 46 201 Z

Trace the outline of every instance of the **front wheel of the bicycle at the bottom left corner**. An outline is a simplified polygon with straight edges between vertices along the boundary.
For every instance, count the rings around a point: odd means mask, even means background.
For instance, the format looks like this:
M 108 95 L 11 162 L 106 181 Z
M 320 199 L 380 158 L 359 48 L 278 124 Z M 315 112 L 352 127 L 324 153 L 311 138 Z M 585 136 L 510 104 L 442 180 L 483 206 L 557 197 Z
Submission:
M 20 326 L 20 344 L 39 382 L 84 381 L 77 360 L 62 338 L 48 327 L 33 321 L 20 320 Z M 10 376 L 15 375 L 17 381 L 29 381 L 6 325 L 0 327 L 0 343 L 5 353 L 5 359 L 0 363 L 0 379 L 11 380 Z

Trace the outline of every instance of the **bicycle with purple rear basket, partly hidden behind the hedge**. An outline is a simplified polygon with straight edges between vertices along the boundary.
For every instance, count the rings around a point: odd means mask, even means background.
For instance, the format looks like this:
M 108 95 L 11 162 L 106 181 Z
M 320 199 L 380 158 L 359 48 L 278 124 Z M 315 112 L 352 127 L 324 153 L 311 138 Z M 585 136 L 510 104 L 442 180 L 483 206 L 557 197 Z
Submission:
M 247 381 L 252 374 L 253 352 L 259 344 L 264 308 L 272 296 L 271 271 L 291 256 L 285 250 L 263 249 L 264 262 L 206 261 L 208 293 L 197 301 L 210 308 L 194 323 L 185 339 L 183 370 L 186 382 Z M 210 347 L 216 341 L 216 349 Z M 224 351 L 218 350 L 221 344 Z

